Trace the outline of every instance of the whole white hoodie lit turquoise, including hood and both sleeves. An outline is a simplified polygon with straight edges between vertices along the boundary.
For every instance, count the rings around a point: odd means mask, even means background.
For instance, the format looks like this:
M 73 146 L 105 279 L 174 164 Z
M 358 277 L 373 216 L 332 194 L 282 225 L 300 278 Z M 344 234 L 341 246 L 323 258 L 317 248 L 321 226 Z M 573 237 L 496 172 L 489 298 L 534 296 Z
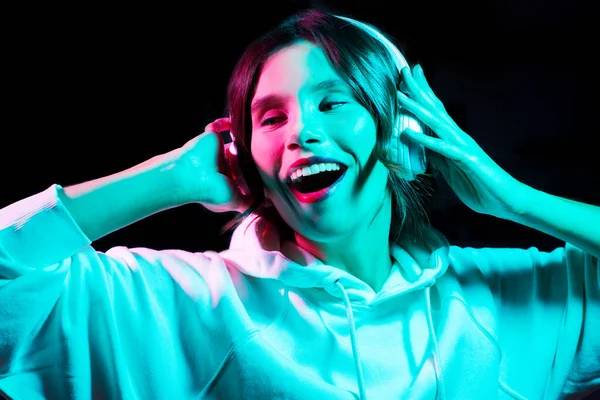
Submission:
M 53 185 L 0 210 L 14 399 L 556 399 L 600 386 L 598 259 L 391 246 L 375 293 L 251 218 L 229 249 L 97 252 Z M 168 232 L 165 232 L 168 234 Z

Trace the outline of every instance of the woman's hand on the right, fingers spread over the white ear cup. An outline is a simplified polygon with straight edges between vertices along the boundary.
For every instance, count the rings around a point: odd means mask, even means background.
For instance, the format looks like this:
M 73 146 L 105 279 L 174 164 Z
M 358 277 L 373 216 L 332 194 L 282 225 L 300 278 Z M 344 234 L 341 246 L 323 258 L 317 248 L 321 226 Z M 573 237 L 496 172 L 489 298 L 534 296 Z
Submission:
M 427 125 L 435 136 L 411 130 L 404 134 L 422 144 L 428 158 L 458 198 L 472 210 L 499 218 L 518 215 L 525 185 L 496 164 L 479 145 L 450 118 L 442 102 L 417 65 L 402 69 L 405 93 L 398 91 L 400 105 Z

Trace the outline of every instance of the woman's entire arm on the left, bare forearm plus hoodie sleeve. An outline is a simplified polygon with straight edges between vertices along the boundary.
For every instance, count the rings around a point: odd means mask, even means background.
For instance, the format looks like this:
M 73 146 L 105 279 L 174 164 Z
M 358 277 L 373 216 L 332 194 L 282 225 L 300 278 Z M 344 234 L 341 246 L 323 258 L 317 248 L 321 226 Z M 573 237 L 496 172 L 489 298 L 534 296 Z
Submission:
M 187 398 L 205 384 L 215 366 L 201 351 L 181 362 L 186 349 L 173 338 L 182 338 L 184 316 L 202 350 L 202 337 L 208 343 L 216 331 L 207 321 L 223 321 L 204 307 L 214 304 L 204 278 L 215 276 L 213 260 L 122 246 L 102 253 L 90 244 L 182 204 L 234 210 L 240 197 L 217 168 L 222 150 L 209 132 L 123 172 L 52 185 L 0 209 L 0 390 L 67 398 L 105 387 L 109 398 Z M 229 276 L 222 261 L 216 265 Z M 169 351 L 157 352 L 165 342 Z

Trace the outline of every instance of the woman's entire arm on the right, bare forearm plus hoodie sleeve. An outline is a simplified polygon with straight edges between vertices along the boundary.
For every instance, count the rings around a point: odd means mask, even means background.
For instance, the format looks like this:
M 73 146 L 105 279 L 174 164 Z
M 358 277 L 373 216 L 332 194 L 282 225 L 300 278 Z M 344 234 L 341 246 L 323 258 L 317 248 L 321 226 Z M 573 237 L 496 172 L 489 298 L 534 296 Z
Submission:
M 496 164 L 446 113 L 419 67 L 405 69 L 402 106 L 435 136 L 406 130 L 473 211 L 538 229 L 566 242 L 536 248 L 465 250 L 492 289 L 503 350 L 501 380 L 526 398 L 558 398 L 600 385 L 600 209 L 535 190 Z M 477 253 L 477 254 L 475 254 Z M 523 373 L 527 371 L 527 373 Z M 535 384 L 532 374 L 538 375 Z M 540 375 L 541 374 L 541 375 Z M 545 396 L 539 396 L 545 393 Z

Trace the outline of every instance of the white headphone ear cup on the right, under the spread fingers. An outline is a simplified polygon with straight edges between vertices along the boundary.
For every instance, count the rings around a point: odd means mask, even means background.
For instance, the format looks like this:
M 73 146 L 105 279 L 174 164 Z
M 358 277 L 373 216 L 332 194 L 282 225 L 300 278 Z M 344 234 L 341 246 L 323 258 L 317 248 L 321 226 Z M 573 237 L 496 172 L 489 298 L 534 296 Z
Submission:
M 427 130 L 427 127 L 412 114 L 400 110 L 396 115 L 388 157 L 400 165 L 401 171 L 397 175 L 402 179 L 412 181 L 427 169 L 427 156 L 423 145 L 402 135 L 406 128 L 418 133 L 425 133 Z

